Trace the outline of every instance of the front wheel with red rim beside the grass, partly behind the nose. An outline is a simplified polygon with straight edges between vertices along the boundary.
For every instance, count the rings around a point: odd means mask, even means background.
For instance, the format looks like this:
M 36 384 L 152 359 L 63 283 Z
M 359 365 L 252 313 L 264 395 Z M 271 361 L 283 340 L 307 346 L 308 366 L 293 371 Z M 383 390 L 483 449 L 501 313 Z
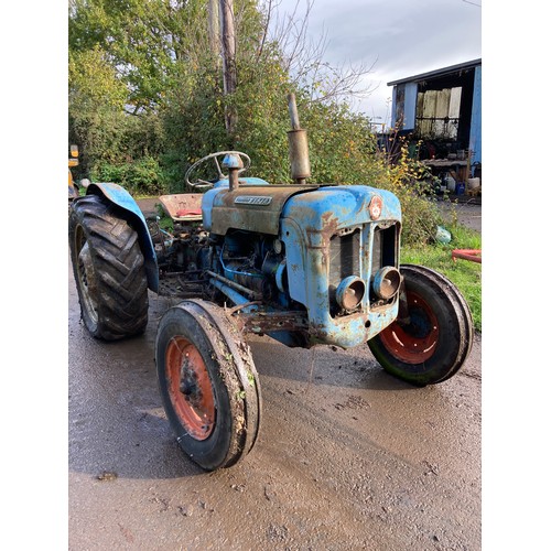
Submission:
M 455 375 L 473 345 L 473 318 L 458 289 L 429 268 L 403 264 L 409 321 L 397 320 L 368 342 L 382 368 L 424 387 Z

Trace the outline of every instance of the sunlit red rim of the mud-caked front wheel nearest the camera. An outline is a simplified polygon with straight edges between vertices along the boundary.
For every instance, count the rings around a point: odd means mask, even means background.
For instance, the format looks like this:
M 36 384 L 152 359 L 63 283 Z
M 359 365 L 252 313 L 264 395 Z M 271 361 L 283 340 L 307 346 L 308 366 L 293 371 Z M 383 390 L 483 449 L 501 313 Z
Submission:
M 165 374 L 172 406 L 187 434 L 206 440 L 216 418 L 213 386 L 199 352 L 184 337 L 171 338 Z

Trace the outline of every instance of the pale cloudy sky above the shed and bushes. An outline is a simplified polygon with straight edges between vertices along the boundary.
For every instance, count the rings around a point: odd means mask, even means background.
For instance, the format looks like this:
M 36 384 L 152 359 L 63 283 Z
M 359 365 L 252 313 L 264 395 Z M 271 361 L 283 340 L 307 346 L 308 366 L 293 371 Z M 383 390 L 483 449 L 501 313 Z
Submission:
M 280 21 L 304 13 L 307 0 L 279 1 Z M 311 0 L 312 1 L 312 0 Z M 309 34 L 326 40 L 332 65 L 371 66 L 367 99 L 355 110 L 390 122 L 387 83 L 482 57 L 482 0 L 313 0 Z

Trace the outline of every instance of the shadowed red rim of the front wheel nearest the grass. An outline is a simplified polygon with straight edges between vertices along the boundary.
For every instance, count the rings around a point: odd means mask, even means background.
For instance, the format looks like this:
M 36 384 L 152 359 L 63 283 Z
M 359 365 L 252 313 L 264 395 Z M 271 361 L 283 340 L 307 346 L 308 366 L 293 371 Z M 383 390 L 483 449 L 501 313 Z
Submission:
M 411 323 L 392 323 L 379 338 L 395 358 L 404 364 L 422 364 L 436 350 L 439 322 L 429 304 L 417 293 L 406 292 Z

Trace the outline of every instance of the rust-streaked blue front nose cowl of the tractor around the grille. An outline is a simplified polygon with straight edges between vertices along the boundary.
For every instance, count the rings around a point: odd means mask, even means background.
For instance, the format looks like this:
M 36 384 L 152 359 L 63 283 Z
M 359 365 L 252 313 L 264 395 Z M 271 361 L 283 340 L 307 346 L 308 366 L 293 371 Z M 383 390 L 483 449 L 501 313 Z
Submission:
M 359 312 L 332 314 L 332 289 L 338 280 L 355 274 L 369 282 L 374 266 L 378 267 L 378 262 L 370 263 L 375 220 L 369 205 L 374 196 L 381 199 L 376 224 L 381 228 L 399 224 L 398 198 L 387 191 L 368 186 L 320 187 L 313 193 L 292 197 L 285 204 L 281 239 L 287 250 L 289 294 L 307 309 L 312 343 L 323 342 L 344 348 L 357 346 L 396 317 L 396 301 L 371 310 L 367 293 Z M 398 239 L 397 231 L 392 236 Z M 383 260 L 395 266 L 398 247 L 393 246 L 392 250 L 392 259 Z M 380 252 L 378 260 L 382 261 Z

